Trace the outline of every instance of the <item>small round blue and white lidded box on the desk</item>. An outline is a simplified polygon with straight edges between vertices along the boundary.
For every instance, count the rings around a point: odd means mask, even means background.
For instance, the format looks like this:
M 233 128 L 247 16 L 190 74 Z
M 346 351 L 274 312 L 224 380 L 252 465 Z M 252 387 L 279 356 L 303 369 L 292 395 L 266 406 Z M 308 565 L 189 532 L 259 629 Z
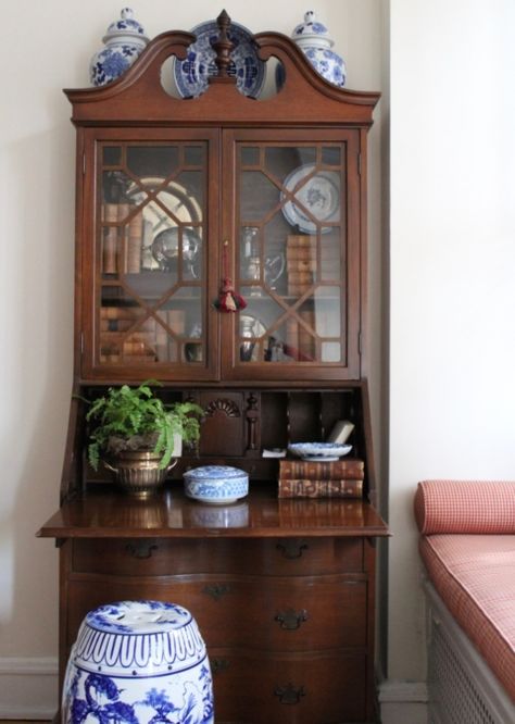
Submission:
M 203 465 L 184 474 L 185 492 L 200 502 L 225 505 L 249 492 L 249 475 L 229 465 Z

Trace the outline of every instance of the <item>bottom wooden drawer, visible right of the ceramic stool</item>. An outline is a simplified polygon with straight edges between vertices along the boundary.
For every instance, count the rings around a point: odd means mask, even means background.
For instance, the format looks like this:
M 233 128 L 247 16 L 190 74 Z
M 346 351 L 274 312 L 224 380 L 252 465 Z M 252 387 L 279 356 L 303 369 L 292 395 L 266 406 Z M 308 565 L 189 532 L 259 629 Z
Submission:
M 372 721 L 366 711 L 365 656 L 272 658 L 221 649 L 210 652 L 210 661 L 217 724 Z

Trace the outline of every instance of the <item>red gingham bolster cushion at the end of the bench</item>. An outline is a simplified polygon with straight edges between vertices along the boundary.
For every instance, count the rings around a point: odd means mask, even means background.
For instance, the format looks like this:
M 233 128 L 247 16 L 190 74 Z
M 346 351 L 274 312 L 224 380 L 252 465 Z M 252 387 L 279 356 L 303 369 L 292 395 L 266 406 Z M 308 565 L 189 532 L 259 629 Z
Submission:
M 515 533 L 515 482 L 424 480 L 415 494 L 420 533 Z

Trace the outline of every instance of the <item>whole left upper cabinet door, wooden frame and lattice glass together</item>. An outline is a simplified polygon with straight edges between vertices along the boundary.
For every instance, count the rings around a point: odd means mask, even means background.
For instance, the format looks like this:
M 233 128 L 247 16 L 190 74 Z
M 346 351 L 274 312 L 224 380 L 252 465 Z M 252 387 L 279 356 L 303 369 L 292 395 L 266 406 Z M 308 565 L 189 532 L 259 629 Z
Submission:
M 83 376 L 216 379 L 218 133 L 97 129 L 85 142 Z

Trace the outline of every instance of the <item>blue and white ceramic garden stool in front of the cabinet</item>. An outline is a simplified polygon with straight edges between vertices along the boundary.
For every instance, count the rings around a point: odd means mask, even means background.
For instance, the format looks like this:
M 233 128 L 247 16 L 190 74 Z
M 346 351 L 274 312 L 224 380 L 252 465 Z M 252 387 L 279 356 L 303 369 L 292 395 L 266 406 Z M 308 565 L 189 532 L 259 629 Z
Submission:
M 187 609 L 122 601 L 90 611 L 66 669 L 62 723 L 212 724 L 205 644 Z

